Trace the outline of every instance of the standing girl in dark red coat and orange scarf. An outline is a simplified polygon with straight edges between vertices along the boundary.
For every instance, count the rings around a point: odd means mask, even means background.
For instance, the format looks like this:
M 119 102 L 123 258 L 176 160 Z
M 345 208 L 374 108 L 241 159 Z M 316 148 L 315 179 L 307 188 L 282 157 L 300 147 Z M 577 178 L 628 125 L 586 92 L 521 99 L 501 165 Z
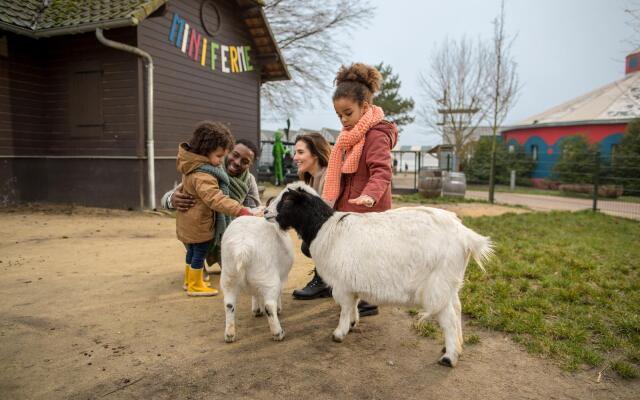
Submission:
M 391 208 L 391 149 L 398 129 L 373 104 L 381 81 L 378 70 L 360 63 L 342 66 L 336 76 L 333 107 L 342 131 L 331 151 L 322 197 L 337 211 Z M 358 310 L 362 317 L 378 313 L 377 306 L 364 301 Z

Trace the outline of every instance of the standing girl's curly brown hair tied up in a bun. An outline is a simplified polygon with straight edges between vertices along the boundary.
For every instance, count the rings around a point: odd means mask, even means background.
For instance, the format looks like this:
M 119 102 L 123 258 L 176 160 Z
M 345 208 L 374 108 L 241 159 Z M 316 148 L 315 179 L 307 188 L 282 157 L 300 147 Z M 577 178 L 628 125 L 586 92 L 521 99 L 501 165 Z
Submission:
M 358 104 L 364 101 L 371 103 L 373 95 L 380 90 L 382 74 L 374 67 L 362 63 L 351 64 L 349 67 L 343 65 L 338 70 L 334 83 L 334 101 L 347 97 Z

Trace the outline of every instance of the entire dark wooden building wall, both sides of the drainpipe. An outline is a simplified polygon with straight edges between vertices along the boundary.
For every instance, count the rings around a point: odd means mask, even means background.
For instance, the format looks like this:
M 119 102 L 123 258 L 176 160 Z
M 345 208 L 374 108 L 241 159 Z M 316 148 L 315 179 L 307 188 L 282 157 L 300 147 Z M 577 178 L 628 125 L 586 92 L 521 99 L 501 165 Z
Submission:
M 174 13 L 206 35 L 200 4 L 171 1 L 137 28 L 105 31 L 154 59 L 156 200 L 179 180 L 177 146 L 198 121 L 222 121 L 236 138 L 259 144 L 260 66 L 253 52 L 253 71 L 224 73 L 169 41 Z M 255 48 L 236 2 L 216 4 L 222 27 L 213 40 Z M 8 57 L 0 54 L 0 205 L 148 204 L 145 69 L 138 57 L 102 45 L 94 32 L 39 40 L 0 34 L 8 43 Z

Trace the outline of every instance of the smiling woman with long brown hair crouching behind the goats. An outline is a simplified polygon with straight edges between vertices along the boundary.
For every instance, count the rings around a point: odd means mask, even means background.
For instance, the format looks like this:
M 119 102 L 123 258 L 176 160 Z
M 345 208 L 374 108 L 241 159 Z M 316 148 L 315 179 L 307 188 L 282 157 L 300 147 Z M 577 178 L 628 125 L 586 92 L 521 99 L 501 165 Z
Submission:
M 322 193 L 324 189 L 324 175 L 327 172 L 330 154 L 329 142 L 319 133 L 306 133 L 296 138 L 293 161 L 298 166 L 298 176 L 318 193 Z M 304 246 L 303 244 L 303 249 Z M 313 279 L 307 286 L 293 291 L 293 297 L 298 300 L 330 296 L 331 288 L 324 283 L 315 269 Z

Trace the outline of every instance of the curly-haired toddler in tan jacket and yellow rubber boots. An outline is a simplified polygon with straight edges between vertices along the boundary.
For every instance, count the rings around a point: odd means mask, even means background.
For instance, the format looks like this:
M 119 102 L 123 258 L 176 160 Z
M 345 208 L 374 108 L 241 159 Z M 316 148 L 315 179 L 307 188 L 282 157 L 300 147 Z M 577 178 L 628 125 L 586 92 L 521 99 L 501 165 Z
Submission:
M 184 282 L 189 296 L 215 296 L 202 276 L 204 259 L 212 240 L 219 240 L 230 216 L 251 215 L 251 211 L 228 196 L 229 178 L 220 164 L 233 148 L 229 129 L 219 122 L 198 125 L 191 141 L 178 147 L 176 161 L 182 173 L 182 191 L 195 204 L 176 214 L 178 240 L 187 248 Z

